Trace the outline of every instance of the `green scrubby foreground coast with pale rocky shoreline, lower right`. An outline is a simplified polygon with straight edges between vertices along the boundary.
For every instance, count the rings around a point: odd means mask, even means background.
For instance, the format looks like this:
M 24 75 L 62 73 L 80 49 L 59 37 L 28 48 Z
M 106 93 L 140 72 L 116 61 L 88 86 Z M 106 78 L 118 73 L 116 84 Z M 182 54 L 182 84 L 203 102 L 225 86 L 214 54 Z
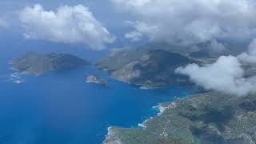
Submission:
M 160 107 L 162 113 L 145 128 L 109 129 L 103 143 L 254 143 L 256 97 L 238 98 L 214 92 L 197 94 Z

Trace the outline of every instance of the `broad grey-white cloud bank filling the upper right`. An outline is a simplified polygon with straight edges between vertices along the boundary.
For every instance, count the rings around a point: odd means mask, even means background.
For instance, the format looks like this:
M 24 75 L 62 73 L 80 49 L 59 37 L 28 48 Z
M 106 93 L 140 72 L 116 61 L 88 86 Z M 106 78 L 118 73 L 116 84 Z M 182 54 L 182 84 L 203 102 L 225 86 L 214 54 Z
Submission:
M 152 41 L 190 46 L 256 35 L 254 0 L 112 0 L 136 16 L 134 29 Z M 215 45 L 215 44 L 214 44 Z M 223 46 L 218 46 L 223 49 Z

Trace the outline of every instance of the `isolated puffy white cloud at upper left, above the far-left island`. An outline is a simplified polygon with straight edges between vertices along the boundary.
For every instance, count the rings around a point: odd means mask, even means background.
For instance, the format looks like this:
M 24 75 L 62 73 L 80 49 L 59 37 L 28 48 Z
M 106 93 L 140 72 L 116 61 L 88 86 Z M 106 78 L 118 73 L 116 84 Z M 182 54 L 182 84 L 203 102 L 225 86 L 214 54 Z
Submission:
M 40 5 L 27 6 L 19 13 L 25 37 L 52 42 L 82 43 L 101 50 L 114 37 L 86 6 L 60 6 L 47 11 Z

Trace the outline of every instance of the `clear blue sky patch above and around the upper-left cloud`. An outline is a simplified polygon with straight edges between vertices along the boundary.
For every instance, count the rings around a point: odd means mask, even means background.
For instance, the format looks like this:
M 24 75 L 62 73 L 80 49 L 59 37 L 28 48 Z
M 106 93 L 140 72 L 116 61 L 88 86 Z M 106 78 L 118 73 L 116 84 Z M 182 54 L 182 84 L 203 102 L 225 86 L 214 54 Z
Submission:
M 90 8 L 90 11 L 95 15 L 100 22 L 107 26 L 110 30 L 116 30 L 122 25 L 126 19 L 130 19 L 130 14 L 120 13 L 115 10 L 113 3 L 109 0 L 2 0 L 0 2 L 0 15 L 10 17 L 11 14 L 22 10 L 25 6 L 34 6 L 41 4 L 46 10 L 56 10 L 58 6 L 76 6 L 83 5 Z M 7 16 L 8 15 L 8 16 Z M 7 18 L 11 22 L 17 18 Z

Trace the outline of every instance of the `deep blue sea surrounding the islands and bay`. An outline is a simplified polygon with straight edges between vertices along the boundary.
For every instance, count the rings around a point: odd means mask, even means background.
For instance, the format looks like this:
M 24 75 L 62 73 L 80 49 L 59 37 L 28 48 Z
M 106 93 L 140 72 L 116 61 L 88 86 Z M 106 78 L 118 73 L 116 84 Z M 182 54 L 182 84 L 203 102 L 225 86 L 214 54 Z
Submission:
M 140 90 L 118 82 L 94 66 L 39 76 L 22 75 L 26 82 L 14 83 L 8 61 L 27 50 L 65 52 L 95 62 L 106 52 L 85 50 L 46 42 L 3 42 L 0 49 L 0 143 L 1 144 L 97 144 L 109 126 L 137 127 L 156 116 L 152 108 L 194 92 L 170 86 Z M 98 74 L 110 86 L 86 83 Z

